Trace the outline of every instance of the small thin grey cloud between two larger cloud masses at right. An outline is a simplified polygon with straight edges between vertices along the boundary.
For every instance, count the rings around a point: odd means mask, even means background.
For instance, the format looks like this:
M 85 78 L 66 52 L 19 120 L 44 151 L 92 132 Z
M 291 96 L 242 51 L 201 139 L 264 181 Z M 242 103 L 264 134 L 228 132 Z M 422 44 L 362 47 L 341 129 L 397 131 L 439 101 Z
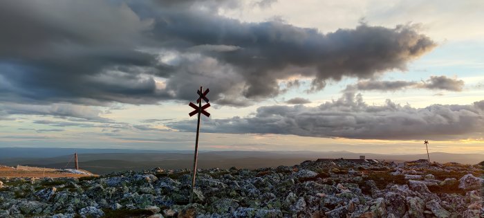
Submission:
M 378 81 L 364 80 L 348 85 L 345 91 L 397 91 L 402 89 L 439 89 L 447 91 L 462 91 L 464 81 L 456 78 L 447 78 L 445 75 L 431 76 L 422 82 L 416 81 Z

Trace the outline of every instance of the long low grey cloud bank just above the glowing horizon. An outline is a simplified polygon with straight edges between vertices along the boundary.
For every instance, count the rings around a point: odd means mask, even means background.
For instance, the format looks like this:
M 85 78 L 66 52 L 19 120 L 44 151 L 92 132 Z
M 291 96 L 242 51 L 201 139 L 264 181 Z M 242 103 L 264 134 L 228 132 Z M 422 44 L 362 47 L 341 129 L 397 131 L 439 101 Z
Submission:
M 430 105 L 413 108 L 387 100 L 382 106 L 366 105 L 360 94 L 318 107 L 303 105 L 259 107 L 254 116 L 203 120 L 203 131 L 230 134 L 294 134 L 297 136 L 361 139 L 433 140 L 481 138 L 484 103 Z M 194 131 L 192 121 L 171 122 L 180 131 Z

